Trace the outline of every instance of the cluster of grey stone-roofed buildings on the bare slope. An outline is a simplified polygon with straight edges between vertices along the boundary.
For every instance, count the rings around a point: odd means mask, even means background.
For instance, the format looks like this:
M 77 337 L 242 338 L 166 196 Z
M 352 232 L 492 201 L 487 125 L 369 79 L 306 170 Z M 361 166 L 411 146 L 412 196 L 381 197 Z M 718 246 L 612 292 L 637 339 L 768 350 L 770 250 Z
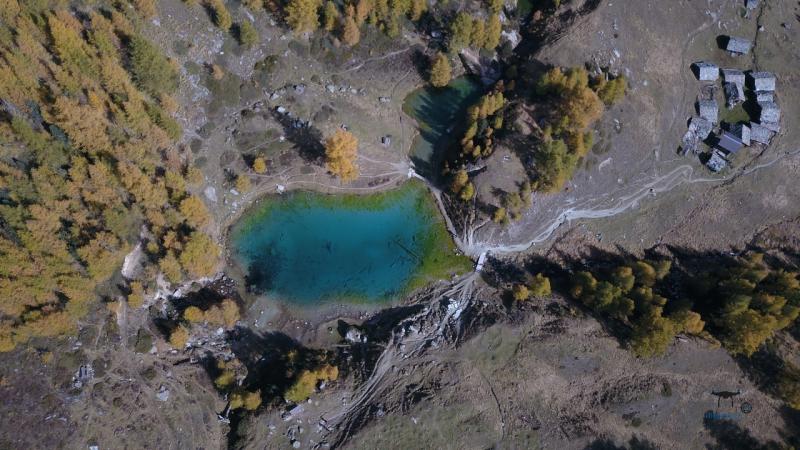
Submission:
M 750 42 L 730 38 L 727 50 L 745 54 L 750 51 Z M 701 143 L 705 143 L 711 148 L 706 166 L 718 172 L 743 147 L 769 145 L 772 137 L 780 132 L 781 111 L 775 102 L 777 79 L 774 74 L 720 69 L 716 64 L 705 61 L 694 63 L 693 70 L 700 81 L 716 83 L 722 78 L 725 107 L 732 109 L 746 102 L 744 109 L 750 115 L 750 120 L 720 123 L 719 105 L 715 95 L 717 86 L 708 86 L 707 94 L 697 101 L 698 115 L 691 118 L 689 129 L 683 136 L 681 148 L 684 155 L 700 153 Z M 753 117 L 756 111 L 757 117 Z

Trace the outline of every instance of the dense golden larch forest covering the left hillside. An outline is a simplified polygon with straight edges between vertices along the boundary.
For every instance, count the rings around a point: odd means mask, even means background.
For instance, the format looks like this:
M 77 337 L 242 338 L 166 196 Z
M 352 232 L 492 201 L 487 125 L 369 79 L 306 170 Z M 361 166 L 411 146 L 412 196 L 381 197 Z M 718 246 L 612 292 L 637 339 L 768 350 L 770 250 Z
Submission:
M 0 350 L 69 333 L 145 243 L 149 275 L 209 275 L 219 249 L 173 145 L 175 64 L 140 3 L 0 6 Z M 144 5 L 147 6 L 147 5 Z M 151 5 L 152 6 L 152 5 Z M 152 285 L 136 286 L 136 298 Z

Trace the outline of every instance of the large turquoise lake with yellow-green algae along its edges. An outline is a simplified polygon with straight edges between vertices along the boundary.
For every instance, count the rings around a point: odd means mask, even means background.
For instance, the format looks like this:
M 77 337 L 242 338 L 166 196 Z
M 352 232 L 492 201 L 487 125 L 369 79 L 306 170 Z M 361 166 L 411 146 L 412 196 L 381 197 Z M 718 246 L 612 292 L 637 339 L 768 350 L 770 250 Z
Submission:
M 251 291 L 295 305 L 389 300 L 421 275 L 447 275 L 453 247 L 437 215 L 418 185 L 270 197 L 232 228 L 233 258 Z

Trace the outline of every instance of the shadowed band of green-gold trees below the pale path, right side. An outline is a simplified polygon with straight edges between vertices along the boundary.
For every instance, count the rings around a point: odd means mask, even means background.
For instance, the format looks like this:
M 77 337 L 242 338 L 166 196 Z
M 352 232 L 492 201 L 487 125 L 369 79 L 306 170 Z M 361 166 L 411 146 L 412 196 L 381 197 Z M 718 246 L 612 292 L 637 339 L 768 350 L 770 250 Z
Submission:
M 531 257 L 524 270 L 494 260 L 486 279 L 513 287 L 509 306 L 541 297 L 530 293 L 546 279 L 640 357 L 663 354 L 679 335 L 722 346 L 762 389 L 800 406 L 800 370 L 777 339 L 798 334 L 797 255 L 667 248 L 641 259 L 594 248 L 556 260 Z

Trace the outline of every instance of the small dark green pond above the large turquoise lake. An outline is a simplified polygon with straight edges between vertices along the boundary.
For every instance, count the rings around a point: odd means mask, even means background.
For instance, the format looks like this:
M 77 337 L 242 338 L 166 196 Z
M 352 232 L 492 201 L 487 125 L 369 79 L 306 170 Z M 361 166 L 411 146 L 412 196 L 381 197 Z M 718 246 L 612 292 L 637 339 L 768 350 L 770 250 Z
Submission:
M 403 111 L 413 117 L 419 134 L 411 144 L 411 159 L 427 177 L 437 177 L 445 152 L 461 134 L 466 109 L 483 93 L 481 84 L 459 77 L 444 88 L 426 86 L 406 97 Z

